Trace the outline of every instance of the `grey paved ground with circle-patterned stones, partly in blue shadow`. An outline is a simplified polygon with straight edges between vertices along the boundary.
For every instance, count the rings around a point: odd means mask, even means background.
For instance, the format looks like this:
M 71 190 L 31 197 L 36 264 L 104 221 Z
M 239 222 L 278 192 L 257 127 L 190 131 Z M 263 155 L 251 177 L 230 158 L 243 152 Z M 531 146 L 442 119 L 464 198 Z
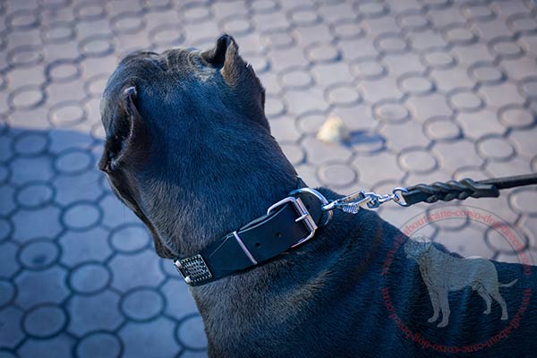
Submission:
M 122 55 L 231 33 L 306 182 L 385 191 L 537 170 L 535 12 L 517 0 L 0 1 L 0 357 L 205 355 L 186 286 L 95 169 L 99 95 Z M 315 138 L 330 114 L 353 131 L 347 145 Z M 522 189 L 465 204 L 533 251 L 536 200 Z M 424 209 L 382 215 L 400 225 Z M 431 227 L 464 255 L 516 260 L 485 226 Z

